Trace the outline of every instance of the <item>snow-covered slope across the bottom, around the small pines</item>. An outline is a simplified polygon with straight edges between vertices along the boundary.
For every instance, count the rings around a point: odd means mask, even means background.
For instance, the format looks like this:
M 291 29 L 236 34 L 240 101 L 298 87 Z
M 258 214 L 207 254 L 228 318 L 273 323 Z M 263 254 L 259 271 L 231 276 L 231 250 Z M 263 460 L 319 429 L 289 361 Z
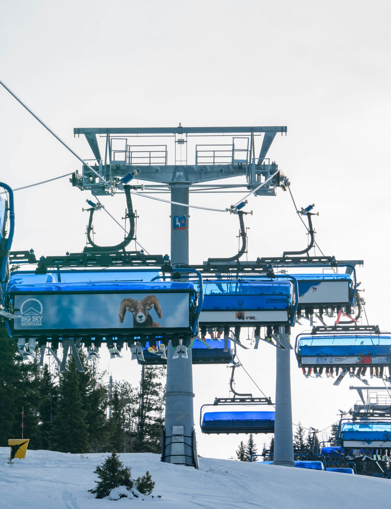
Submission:
M 106 454 L 79 455 L 27 450 L 24 460 L 7 464 L 9 449 L 0 447 L 0 507 L 2 509 L 106 509 L 134 506 L 157 509 L 317 509 L 372 507 L 388 500 L 391 481 L 373 477 L 276 467 L 256 463 L 200 458 L 200 470 L 160 463 L 158 455 L 122 454 L 132 477 L 146 470 L 156 482 L 151 501 L 97 500 L 93 471 Z

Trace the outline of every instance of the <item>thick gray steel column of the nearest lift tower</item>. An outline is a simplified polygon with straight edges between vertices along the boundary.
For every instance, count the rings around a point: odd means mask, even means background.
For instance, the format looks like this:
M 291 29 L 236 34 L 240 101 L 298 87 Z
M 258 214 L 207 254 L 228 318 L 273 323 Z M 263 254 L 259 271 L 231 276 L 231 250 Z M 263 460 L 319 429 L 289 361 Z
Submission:
M 173 187 L 171 201 L 189 203 L 188 187 Z M 171 205 L 171 261 L 189 263 L 188 208 Z M 184 221 L 184 222 L 182 222 Z M 187 359 L 173 359 L 174 348 L 167 349 L 164 444 L 162 461 L 198 468 L 193 415 L 193 377 L 191 350 Z

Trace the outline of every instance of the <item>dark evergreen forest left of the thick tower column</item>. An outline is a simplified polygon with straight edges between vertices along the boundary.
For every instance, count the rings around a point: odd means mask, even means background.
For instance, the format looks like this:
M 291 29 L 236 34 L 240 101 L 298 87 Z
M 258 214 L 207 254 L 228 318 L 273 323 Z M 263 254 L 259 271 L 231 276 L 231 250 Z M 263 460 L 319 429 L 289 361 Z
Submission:
M 72 355 L 61 375 L 52 356 L 44 366 L 37 359 L 23 362 L 0 322 L 0 446 L 22 436 L 23 412 L 23 436 L 31 449 L 161 453 L 165 366 L 142 366 L 134 387 L 113 382 L 85 351 L 79 357 L 84 373 Z

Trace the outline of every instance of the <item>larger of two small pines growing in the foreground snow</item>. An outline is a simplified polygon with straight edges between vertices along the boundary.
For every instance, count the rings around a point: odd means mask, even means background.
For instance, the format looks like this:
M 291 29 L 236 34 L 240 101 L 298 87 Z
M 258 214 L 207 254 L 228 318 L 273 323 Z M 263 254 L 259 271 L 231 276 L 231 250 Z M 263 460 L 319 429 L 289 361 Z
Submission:
M 128 490 L 133 487 L 130 468 L 124 467 L 115 451 L 105 459 L 102 465 L 96 467 L 94 473 L 101 479 L 95 481 L 97 486 L 94 490 L 88 490 L 90 493 L 96 493 L 95 498 L 107 497 L 111 490 L 119 486 L 125 486 Z

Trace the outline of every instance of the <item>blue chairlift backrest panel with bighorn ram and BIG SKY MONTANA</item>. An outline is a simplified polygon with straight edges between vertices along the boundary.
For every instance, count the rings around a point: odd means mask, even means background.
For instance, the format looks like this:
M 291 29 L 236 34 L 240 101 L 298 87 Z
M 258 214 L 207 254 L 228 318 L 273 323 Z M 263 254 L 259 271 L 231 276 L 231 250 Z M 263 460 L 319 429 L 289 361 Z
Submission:
M 7 293 L 14 337 L 191 335 L 196 319 L 191 282 L 40 282 Z

